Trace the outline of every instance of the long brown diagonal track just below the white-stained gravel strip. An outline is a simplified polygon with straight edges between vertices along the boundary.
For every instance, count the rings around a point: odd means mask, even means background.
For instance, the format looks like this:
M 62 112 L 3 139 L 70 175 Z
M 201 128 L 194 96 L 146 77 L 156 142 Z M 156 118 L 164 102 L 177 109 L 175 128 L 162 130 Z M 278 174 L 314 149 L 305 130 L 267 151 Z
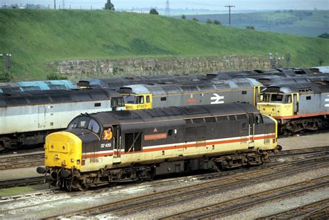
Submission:
M 298 162 L 280 165 L 278 167 L 269 167 L 267 169 L 261 169 L 258 171 L 245 172 L 235 176 L 228 176 L 225 178 L 219 178 L 217 180 L 210 180 L 207 183 L 201 183 L 198 185 L 192 185 L 188 187 L 181 187 L 178 189 L 172 189 L 165 192 L 155 192 L 146 196 L 138 196 L 135 198 L 128 198 L 123 201 L 115 201 L 104 205 L 98 205 L 93 208 L 87 208 L 78 210 L 64 216 L 51 216 L 49 218 L 60 218 L 60 217 L 74 217 L 76 215 L 83 217 L 97 216 L 99 218 L 106 217 L 106 214 L 110 213 L 111 216 L 124 217 L 126 214 L 137 212 L 138 210 L 144 210 L 145 208 L 153 208 L 161 205 L 168 205 L 172 203 L 180 203 L 188 199 L 198 198 L 200 196 L 206 196 L 214 194 L 216 192 L 224 192 L 227 190 L 244 187 L 255 183 L 255 181 L 270 181 L 276 180 L 292 174 L 296 174 L 300 171 L 312 170 L 316 167 L 329 167 L 329 158 L 326 157 L 326 162 L 317 160 L 308 160 L 306 163 L 303 162 L 301 165 Z M 298 166 L 299 164 L 300 166 Z M 296 166 L 298 168 L 296 168 Z M 315 182 L 314 182 L 315 181 Z M 307 183 L 310 181 L 306 181 Z M 305 182 L 305 183 L 306 183 Z M 329 185 L 329 176 L 321 180 L 312 180 L 310 183 L 322 183 L 325 182 L 326 186 Z M 304 183 L 301 183 L 303 185 Z M 280 190 L 279 190 L 280 191 Z M 105 216 L 103 215 L 105 214 Z

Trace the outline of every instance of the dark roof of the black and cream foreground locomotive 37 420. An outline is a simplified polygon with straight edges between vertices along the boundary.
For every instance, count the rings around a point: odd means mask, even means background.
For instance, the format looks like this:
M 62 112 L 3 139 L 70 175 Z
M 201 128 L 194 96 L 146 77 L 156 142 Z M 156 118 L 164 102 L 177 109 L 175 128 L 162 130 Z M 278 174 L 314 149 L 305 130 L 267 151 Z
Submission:
M 249 103 L 225 103 L 220 105 L 174 106 L 149 110 L 97 112 L 90 114 L 90 117 L 95 118 L 102 126 L 106 127 L 112 124 L 168 121 L 170 119 L 189 119 L 221 115 L 241 115 L 251 112 L 258 112 L 258 110 Z

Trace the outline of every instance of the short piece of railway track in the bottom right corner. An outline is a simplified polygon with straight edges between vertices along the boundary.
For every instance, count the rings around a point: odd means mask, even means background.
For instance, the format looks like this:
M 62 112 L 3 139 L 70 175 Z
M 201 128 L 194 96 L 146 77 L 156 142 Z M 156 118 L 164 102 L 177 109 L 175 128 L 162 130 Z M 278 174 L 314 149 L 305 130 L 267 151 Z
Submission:
M 302 205 L 292 210 L 279 212 L 267 217 L 258 218 L 256 220 L 270 219 L 328 219 L 329 217 L 329 198 Z

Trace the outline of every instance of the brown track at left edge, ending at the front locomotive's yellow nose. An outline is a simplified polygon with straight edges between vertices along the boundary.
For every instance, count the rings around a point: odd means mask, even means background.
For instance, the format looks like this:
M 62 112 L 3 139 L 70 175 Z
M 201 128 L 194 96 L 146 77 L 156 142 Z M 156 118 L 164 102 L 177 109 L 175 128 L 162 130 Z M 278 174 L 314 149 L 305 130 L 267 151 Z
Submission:
M 0 170 L 34 167 L 44 164 L 44 152 L 24 155 L 3 155 L 0 158 Z

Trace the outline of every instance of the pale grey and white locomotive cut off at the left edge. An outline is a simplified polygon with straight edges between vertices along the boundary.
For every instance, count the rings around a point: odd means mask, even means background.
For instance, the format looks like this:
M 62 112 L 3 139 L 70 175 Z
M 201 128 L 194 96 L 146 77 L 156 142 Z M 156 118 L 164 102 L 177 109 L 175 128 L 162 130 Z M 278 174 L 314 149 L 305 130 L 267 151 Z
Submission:
M 108 89 L 0 94 L 0 151 L 44 143 L 77 115 L 108 110 L 124 110 L 122 96 Z

